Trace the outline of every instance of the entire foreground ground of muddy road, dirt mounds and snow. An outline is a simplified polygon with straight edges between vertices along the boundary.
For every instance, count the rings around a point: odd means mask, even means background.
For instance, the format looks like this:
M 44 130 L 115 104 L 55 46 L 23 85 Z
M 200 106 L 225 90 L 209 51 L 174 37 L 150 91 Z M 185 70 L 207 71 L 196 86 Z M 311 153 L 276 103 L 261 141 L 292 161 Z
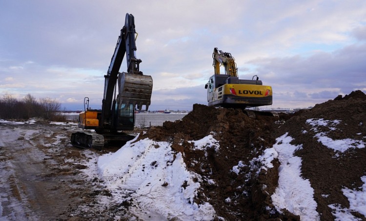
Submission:
M 75 124 L 1 120 L 0 220 L 366 220 L 365 107 L 196 105 L 102 152 L 70 145 Z

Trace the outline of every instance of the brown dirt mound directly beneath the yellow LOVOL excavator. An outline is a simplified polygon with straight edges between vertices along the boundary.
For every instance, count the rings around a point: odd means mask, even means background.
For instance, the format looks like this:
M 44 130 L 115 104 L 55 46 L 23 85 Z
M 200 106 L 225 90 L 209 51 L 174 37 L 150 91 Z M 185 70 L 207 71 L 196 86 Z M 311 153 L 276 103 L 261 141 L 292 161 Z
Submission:
M 182 152 L 187 168 L 203 179 L 196 202 L 208 201 L 219 217 L 268 220 L 284 217 L 265 209 L 277 185 L 279 164 L 276 161 L 274 168 L 260 173 L 261 164 L 256 159 L 274 143 L 275 121 L 278 118 L 269 116 L 251 119 L 240 109 L 194 104 L 183 120 L 166 121 L 140 139 L 169 141 L 173 149 Z M 200 150 L 191 142 L 209 135 L 218 141 L 219 149 Z M 287 214 L 287 218 L 294 216 Z

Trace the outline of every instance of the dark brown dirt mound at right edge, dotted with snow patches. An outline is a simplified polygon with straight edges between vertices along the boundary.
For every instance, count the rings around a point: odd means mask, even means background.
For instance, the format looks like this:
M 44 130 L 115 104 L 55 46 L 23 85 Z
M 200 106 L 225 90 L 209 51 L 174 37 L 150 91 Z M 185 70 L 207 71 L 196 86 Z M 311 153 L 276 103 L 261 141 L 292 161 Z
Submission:
M 323 125 L 315 125 L 314 122 L 319 121 Z M 363 184 L 360 178 L 366 173 L 366 148 L 361 148 L 362 142 L 366 141 L 365 121 L 366 95 L 362 91 L 354 91 L 344 98 L 338 96 L 317 104 L 276 130 L 277 137 L 288 132 L 294 138 L 292 143 L 303 145 L 296 155 L 303 160 L 302 175 L 309 179 L 314 189 L 321 220 L 334 219 L 329 205 L 349 208 L 349 201 L 342 189 L 354 189 Z M 328 148 L 325 136 L 333 144 L 347 141 L 351 147 L 345 151 Z M 345 146 L 340 145 L 341 148 Z M 350 213 L 361 220 L 365 219 L 358 212 Z

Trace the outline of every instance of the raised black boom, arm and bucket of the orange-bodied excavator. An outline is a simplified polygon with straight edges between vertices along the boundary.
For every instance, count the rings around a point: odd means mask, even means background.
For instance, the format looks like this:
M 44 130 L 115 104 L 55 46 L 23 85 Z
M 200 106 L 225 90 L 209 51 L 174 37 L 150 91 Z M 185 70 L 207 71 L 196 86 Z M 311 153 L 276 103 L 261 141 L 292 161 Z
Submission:
M 121 122 L 118 122 L 118 118 L 122 115 L 121 109 L 123 107 L 129 106 L 129 109 L 134 110 L 137 105 L 141 110 L 142 105 L 146 105 L 147 110 L 150 105 L 152 78 L 151 76 L 143 75 L 142 71 L 140 71 L 142 60 L 136 58 L 135 34 L 137 33 L 135 31 L 134 16 L 127 13 L 108 72 L 104 75 L 104 94 L 99 130 L 122 129 L 119 128 Z M 120 73 L 119 70 L 125 54 L 127 72 Z

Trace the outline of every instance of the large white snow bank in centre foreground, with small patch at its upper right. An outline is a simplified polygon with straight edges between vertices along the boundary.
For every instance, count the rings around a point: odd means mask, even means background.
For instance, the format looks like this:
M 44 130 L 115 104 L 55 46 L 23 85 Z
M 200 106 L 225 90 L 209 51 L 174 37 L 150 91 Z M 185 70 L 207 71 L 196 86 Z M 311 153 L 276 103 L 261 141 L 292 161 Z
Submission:
M 142 220 L 212 220 L 212 205 L 194 201 L 202 179 L 186 169 L 182 154 L 168 142 L 136 139 L 99 157 L 99 171 L 114 197 L 120 202 L 133 198 L 137 207 L 130 211 Z M 210 136 L 191 142 L 197 148 L 216 143 Z

